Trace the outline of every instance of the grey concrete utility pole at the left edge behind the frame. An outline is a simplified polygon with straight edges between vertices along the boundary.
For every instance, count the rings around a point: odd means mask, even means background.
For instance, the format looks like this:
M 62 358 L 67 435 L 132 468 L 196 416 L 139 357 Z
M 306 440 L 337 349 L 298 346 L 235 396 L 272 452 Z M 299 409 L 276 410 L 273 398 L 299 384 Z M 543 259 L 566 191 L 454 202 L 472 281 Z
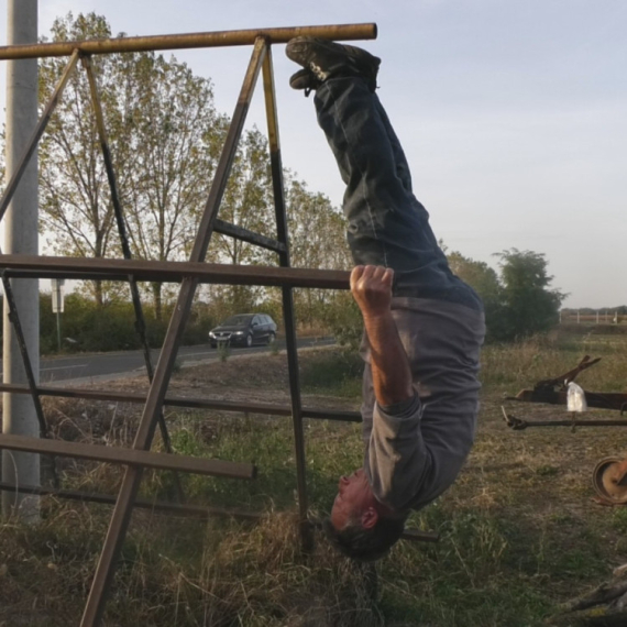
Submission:
M 8 0 L 7 42 L 37 42 L 37 0 Z M 22 152 L 37 123 L 37 59 L 7 61 L 7 180 L 16 169 Z M 4 218 L 6 253 L 38 254 L 37 158 L 31 158 Z M 12 279 L 20 321 L 26 339 L 33 372 L 40 372 L 40 305 L 37 279 Z M 22 358 L 7 317 L 3 316 L 4 383 L 26 383 Z M 35 408 L 30 396 L 3 394 L 2 432 L 37 437 Z M 14 485 L 40 485 L 40 457 L 33 453 L 2 452 L 2 481 Z M 36 496 L 2 493 L 2 513 L 25 520 L 38 519 Z

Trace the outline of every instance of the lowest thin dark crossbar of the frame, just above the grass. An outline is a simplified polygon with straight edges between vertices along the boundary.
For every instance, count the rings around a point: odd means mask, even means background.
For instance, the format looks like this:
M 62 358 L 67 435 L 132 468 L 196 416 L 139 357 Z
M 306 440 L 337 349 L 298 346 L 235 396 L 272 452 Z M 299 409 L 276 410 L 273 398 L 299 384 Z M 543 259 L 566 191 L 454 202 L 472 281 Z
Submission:
M 14 485 L 9 483 L 0 483 L 0 490 L 3 492 L 15 492 Z M 19 492 L 24 494 L 36 494 L 38 496 L 56 496 L 58 498 L 67 498 L 68 501 L 81 501 L 86 503 L 102 503 L 105 505 L 114 505 L 116 497 L 111 494 L 101 494 L 97 492 L 80 492 L 76 490 L 57 490 L 53 487 L 41 487 L 32 485 L 21 485 Z M 194 518 L 209 518 L 211 516 L 224 516 L 227 518 L 243 518 L 246 520 L 258 520 L 263 514 L 256 512 L 244 512 L 242 509 L 231 509 L 226 507 L 206 507 L 202 505 L 182 505 L 180 503 L 168 503 L 165 501 L 150 501 L 148 498 L 138 498 L 133 504 L 134 507 L 141 509 L 151 509 L 173 516 L 189 516 Z

